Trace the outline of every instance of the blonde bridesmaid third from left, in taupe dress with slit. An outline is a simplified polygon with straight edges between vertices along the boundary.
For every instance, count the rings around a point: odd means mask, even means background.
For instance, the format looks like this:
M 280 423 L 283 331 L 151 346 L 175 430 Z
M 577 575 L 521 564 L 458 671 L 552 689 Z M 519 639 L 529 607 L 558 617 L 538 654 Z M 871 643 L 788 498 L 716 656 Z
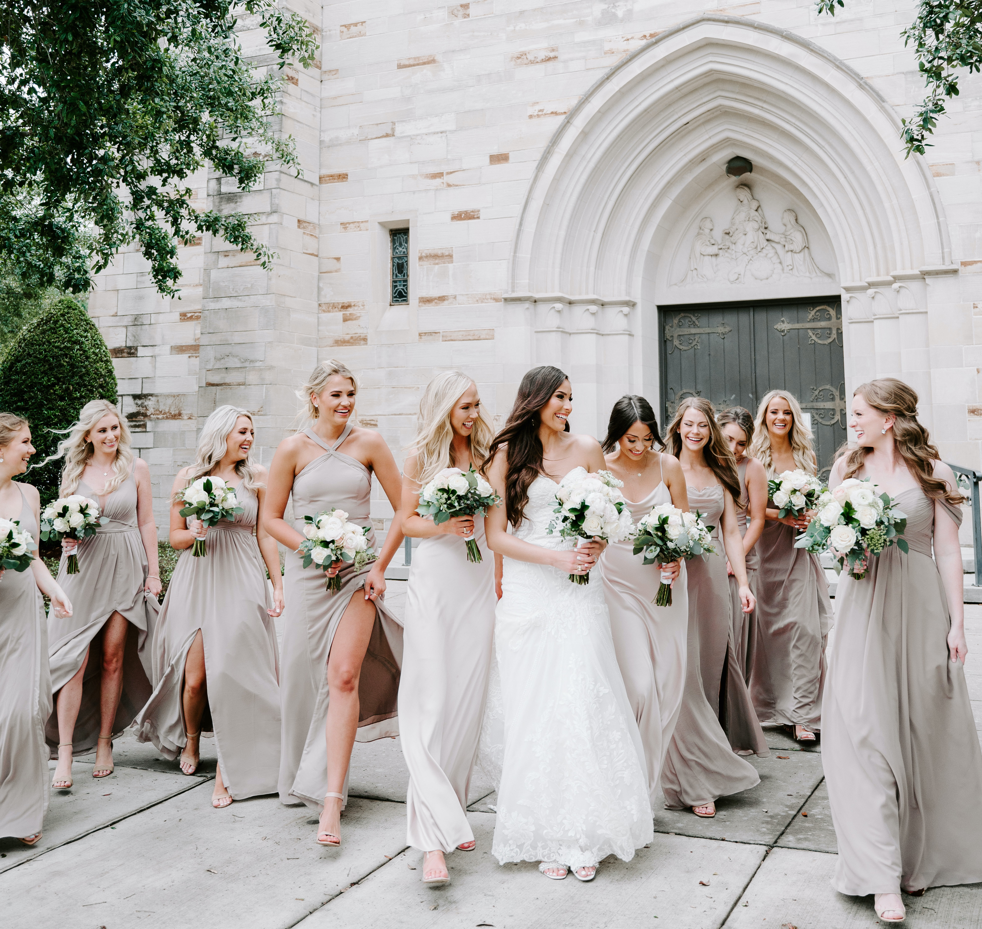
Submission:
M 260 516 L 266 469 L 252 461 L 254 439 L 249 412 L 219 407 L 205 420 L 194 464 L 174 480 L 170 541 L 184 554 L 153 636 L 153 696 L 136 718 L 136 738 L 152 741 L 171 760 L 180 753 L 189 775 L 197 769 L 202 731 L 214 734 L 211 805 L 218 809 L 233 798 L 275 793 L 280 769 L 279 655 L 271 617 L 283 610 L 283 577 L 276 540 Z M 184 519 L 178 500 L 208 474 L 235 487 L 243 509 L 210 530 Z M 205 537 L 207 555 L 195 558 L 191 545 Z

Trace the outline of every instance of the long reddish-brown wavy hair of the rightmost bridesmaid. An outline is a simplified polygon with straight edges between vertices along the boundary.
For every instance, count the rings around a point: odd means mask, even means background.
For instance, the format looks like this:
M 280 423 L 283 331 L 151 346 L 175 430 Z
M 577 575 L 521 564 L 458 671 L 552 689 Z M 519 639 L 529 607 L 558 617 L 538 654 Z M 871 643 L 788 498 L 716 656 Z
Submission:
M 925 496 L 945 500 L 955 507 L 964 503 L 965 498 L 958 493 L 957 488 L 953 489 L 947 481 L 934 476 L 934 463 L 941 461 L 941 453 L 931 444 L 927 429 L 917 419 L 917 393 L 912 387 L 896 377 L 880 377 L 860 384 L 852 391 L 852 396 L 862 397 L 874 410 L 879 410 L 885 416 L 893 414 L 896 417 L 894 444 L 903 464 L 907 465 L 907 470 L 920 484 Z M 867 448 L 847 447 L 839 450 L 839 457 L 846 459 L 844 480 L 862 469 L 870 451 Z

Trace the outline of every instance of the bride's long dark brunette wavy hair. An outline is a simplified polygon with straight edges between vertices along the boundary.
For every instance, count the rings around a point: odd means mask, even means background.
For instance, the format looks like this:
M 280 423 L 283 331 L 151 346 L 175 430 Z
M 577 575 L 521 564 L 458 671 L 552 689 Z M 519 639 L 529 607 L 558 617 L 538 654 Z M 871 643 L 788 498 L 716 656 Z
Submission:
M 508 414 L 501 431 L 494 437 L 488 449 L 488 457 L 481 465 L 481 470 L 486 473 L 497 451 L 502 446 L 506 447 L 508 466 L 505 473 L 505 514 L 516 528 L 525 519 L 528 488 L 539 474 L 544 473 L 542 441 L 539 439 L 539 410 L 549 403 L 565 380 L 568 380 L 566 373 L 551 364 L 533 367 L 525 372 L 518 385 L 515 406 Z M 569 422 L 566 424 L 566 431 L 570 431 Z

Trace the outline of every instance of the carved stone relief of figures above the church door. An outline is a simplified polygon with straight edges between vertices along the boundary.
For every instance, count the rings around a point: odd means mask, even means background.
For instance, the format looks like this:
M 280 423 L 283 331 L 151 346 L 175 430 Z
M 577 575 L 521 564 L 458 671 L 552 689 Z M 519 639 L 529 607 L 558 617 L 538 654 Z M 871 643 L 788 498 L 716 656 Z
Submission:
M 692 240 L 688 271 L 675 287 L 701 284 L 777 283 L 787 278 L 831 279 L 811 256 L 808 234 L 797 213 L 781 214 L 783 230 L 767 223 L 760 201 L 745 184 L 734 191 L 736 209 L 720 241 L 713 235 L 713 220 L 704 216 Z

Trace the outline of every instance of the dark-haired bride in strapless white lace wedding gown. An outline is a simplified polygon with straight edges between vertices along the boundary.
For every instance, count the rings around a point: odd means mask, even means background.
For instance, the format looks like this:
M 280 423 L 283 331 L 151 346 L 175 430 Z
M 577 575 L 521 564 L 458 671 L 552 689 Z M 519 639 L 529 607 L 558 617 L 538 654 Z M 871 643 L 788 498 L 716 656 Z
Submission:
M 501 864 L 539 861 L 546 877 L 590 881 L 609 854 L 650 842 L 644 749 L 618 670 L 597 558 L 548 527 L 556 482 L 604 466 L 600 445 L 570 433 L 570 380 L 530 370 L 486 471 L 505 506 L 485 518 L 504 556 L 495 614 L 504 737 L 492 852 Z M 590 574 L 575 584 L 569 574 Z

